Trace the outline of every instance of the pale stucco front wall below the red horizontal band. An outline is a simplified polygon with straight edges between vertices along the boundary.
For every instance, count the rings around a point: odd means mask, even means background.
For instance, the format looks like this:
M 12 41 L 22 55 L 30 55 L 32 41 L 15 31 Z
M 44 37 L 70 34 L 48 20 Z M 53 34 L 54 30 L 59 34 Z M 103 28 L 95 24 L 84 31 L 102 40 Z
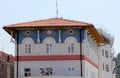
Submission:
M 19 76 L 24 76 L 24 68 L 31 68 L 31 76 L 42 76 L 40 68 L 53 68 L 54 76 L 68 76 L 68 68 L 74 68 L 73 76 L 80 76 L 80 61 L 21 61 Z

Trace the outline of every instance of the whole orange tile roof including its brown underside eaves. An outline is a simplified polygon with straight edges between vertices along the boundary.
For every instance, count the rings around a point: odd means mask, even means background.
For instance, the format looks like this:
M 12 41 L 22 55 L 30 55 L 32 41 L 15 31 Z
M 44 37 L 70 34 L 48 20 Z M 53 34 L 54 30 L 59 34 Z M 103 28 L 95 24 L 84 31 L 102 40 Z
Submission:
M 33 21 L 33 22 L 25 22 L 25 23 L 19 23 L 19 24 L 12 24 L 4 26 L 3 28 L 10 34 L 11 31 L 14 30 L 20 30 L 20 28 L 44 28 L 44 27 L 83 27 L 85 28 L 92 37 L 97 41 L 97 43 L 103 43 L 101 36 L 95 29 L 95 27 L 92 24 L 80 22 L 80 21 L 74 21 L 74 20 L 68 20 L 63 18 L 50 18 L 45 20 L 39 20 L 39 21 Z

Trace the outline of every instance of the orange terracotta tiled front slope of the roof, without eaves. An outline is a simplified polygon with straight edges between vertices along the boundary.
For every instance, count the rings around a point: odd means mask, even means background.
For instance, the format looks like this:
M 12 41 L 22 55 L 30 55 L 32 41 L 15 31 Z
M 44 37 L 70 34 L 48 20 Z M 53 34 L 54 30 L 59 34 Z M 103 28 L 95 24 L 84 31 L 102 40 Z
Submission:
M 39 20 L 39 21 L 32 21 L 32 22 L 25 22 L 25 23 L 19 23 L 19 24 L 12 24 L 8 25 L 9 27 L 48 27 L 48 26 L 88 26 L 91 24 L 74 21 L 74 20 L 68 20 L 63 18 L 51 18 L 51 19 L 45 19 L 45 20 Z

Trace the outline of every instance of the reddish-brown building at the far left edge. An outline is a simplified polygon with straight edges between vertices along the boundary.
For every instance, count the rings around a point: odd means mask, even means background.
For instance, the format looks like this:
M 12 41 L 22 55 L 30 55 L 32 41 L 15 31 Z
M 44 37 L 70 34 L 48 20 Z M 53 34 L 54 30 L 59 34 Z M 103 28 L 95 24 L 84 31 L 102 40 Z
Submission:
M 13 56 L 0 51 L 0 78 L 14 78 Z

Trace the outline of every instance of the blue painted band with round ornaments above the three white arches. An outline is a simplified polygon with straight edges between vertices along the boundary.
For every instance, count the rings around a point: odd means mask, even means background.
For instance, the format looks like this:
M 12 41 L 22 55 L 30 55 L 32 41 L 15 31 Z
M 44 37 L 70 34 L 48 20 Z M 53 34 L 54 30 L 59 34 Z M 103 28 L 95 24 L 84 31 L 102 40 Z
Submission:
M 26 30 L 27 31 L 27 30 Z M 26 37 L 30 37 L 33 39 L 34 43 L 36 44 L 37 43 L 37 36 L 38 36 L 38 33 L 36 30 L 31 30 L 31 34 L 30 35 L 26 35 L 25 30 L 19 30 L 19 31 L 16 31 L 16 34 L 15 34 L 15 40 L 17 40 L 17 34 L 18 34 L 18 37 L 19 37 L 19 41 L 17 41 L 18 44 L 21 44 L 22 43 L 22 40 Z M 44 29 L 44 30 L 41 30 L 39 32 L 40 34 L 40 42 L 43 43 L 44 39 L 47 38 L 47 37 L 52 37 L 55 39 L 56 43 L 58 43 L 58 39 L 59 39 L 59 30 L 57 29 L 53 29 L 51 30 L 52 31 L 52 34 L 47 34 L 47 30 Z M 81 29 L 73 29 L 73 33 L 69 33 L 68 32 L 69 29 L 62 29 L 61 30 L 61 43 L 64 43 L 65 39 L 67 37 L 74 37 L 76 38 L 77 42 L 80 42 L 80 31 L 82 32 L 82 40 L 85 39 L 85 30 L 81 30 Z

